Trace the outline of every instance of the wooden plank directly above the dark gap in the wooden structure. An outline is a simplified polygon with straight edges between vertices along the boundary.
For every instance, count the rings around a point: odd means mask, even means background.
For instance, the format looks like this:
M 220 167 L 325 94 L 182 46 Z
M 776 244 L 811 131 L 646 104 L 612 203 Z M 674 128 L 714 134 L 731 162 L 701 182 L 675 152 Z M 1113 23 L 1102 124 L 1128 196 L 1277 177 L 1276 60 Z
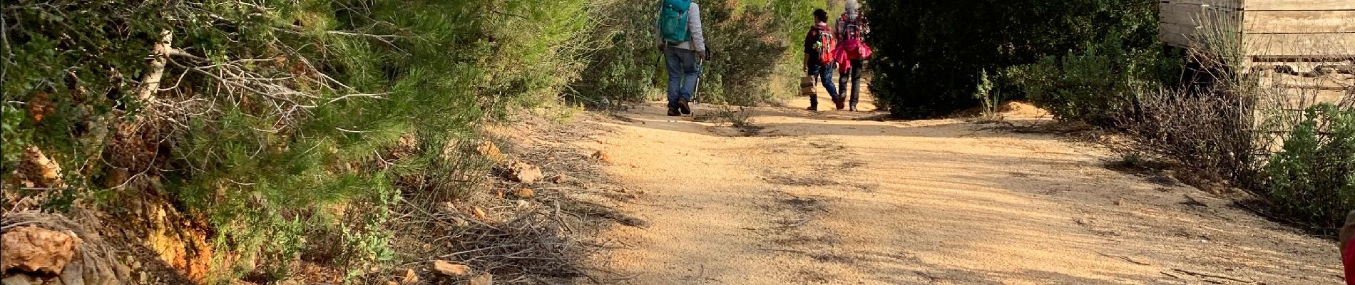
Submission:
M 1251 57 L 1355 57 L 1355 32 L 1248 34 L 1243 43 Z

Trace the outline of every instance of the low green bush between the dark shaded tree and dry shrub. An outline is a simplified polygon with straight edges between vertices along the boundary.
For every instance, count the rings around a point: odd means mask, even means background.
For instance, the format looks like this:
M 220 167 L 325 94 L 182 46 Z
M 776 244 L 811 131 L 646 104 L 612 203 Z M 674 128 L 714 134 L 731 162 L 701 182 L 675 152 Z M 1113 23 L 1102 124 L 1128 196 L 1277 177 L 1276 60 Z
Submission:
M 1129 49 L 1118 35 L 1035 63 L 1007 69 L 1008 84 L 1057 119 L 1110 126 L 1135 93 L 1164 88 L 1182 61 L 1160 49 Z

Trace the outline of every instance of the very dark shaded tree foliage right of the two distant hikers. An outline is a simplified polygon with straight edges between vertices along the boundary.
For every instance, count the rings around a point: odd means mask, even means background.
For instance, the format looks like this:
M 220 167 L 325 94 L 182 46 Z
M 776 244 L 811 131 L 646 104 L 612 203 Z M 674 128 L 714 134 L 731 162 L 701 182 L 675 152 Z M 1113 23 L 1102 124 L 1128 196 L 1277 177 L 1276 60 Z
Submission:
M 927 118 L 976 104 L 974 70 L 1005 70 L 1085 50 L 1118 35 L 1126 50 L 1156 47 L 1148 0 L 870 1 L 870 69 L 877 104 L 896 116 Z M 1020 95 L 999 84 L 1007 95 Z

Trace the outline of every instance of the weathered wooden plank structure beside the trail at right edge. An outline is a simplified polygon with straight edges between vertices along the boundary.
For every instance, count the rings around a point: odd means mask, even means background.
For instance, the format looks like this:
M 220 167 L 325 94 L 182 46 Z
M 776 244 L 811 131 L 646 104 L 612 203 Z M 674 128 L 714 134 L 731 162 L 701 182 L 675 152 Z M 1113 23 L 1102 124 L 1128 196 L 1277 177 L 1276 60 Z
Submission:
M 1164 43 L 1240 57 L 1240 72 L 1259 81 L 1256 116 L 1268 130 L 1259 143 L 1270 151 L 1304 109 L 1355 105 L 1355 0 L 1160 1 Z

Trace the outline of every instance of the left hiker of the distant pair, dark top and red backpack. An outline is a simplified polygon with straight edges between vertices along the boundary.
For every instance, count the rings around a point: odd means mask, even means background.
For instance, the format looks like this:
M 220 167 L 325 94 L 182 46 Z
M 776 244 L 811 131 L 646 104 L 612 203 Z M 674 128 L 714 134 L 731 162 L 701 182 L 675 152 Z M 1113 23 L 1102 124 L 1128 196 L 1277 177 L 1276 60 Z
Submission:
M 843 108 L 837 88 L 833 88 L 833 50 L 837 47 L 837 38 L 832 27 L 828 27 L 828 11 L 814 9 L 814 26 L 805 34 L 805 65 L 804 72 L 810 77 L 820 77 L 824 89 L 837 109 Z M 809 111 L 818 111 L 818 95 L 809 95 Z

